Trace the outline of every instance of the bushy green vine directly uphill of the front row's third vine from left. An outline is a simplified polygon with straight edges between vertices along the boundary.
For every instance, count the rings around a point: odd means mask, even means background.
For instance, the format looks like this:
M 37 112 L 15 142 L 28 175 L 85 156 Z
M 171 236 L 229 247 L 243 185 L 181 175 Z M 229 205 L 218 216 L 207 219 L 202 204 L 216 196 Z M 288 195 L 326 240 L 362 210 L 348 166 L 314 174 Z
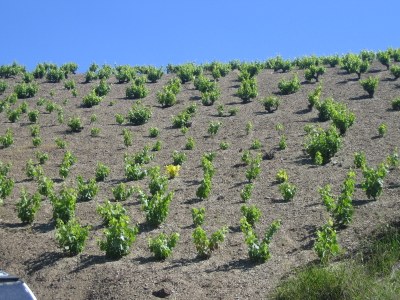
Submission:
M 155 193 L 154 195 L 146 196 L 143 192 L 139 192 L 142 210 L 146 215 L 146 221 L 152 226 L 159 226 L 168 216 L 169 205 L 174 196 L 173 192 Z

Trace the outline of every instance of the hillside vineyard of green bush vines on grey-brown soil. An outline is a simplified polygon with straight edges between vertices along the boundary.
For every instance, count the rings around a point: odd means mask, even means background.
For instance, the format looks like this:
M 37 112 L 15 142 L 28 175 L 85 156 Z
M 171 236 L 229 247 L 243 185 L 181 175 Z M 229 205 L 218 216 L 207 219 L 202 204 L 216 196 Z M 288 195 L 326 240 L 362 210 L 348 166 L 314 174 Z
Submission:
M 399 217 L 400 49 L 0 66 L 0 269 L 38 299 L 259 299 Z

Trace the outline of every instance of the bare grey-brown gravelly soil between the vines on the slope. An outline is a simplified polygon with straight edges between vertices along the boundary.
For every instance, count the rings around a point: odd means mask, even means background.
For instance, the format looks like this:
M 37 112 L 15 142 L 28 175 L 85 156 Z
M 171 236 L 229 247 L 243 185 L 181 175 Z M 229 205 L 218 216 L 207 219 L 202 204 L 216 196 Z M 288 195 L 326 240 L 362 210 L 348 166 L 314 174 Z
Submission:
M 304 71 L 273 73 L 263 70 L 258 76 L 258 99 L 278 93 L 278 82 L 291 78 L 297 73 L 304 81 Z M 45 112 L 43 106 L 37 107 L 43 143 L 32 146 L 29 121 L 26 115 L 16 123 L 7 120 L 6 113 L 0 114 L 0 135 L 7 128 L 14 131 L 14 144 L 0 149 L 0 160 L 11 162 L 10 176 L 15 180 L 15 188 L 0 206 L 0 269 L 19 276 L 27 282 L 38 299 L 149 299 L 160 289 L 169 289 L 171 299 L 260 299 L 268 297 L 282 278 L 291 274 L 297 267 L 317 259 L 313 250 L 315 232 L 328 218 L 325 207 L 318 194 L 318 187 L 331 184 L 338 193 L 341 184 L 353 165 L 353 153 L 364 151 L 368 164 L 376 166 L 386 156 L 400 146 L 400 113 L 391 109 L 391 101 L 398 97 L 400 89 L 386 67 L 374 62 L 366 76 L 379 76 L 380 84 L 373 99 L 366 97 L 356 75 L 348 75 L 339 68 L 327 68 L 322 75 L 322 98 L 333 97 L 344 102 L 356 114 L 356 122 L 343 138 L 343 147 L 332 161 L 324 166 L 314 166 L 304 153 L 304 126 L 319 124 L 327 127 L 330 122 L 319 123 L 317 111 L 307 110 L 307 94 L 316 87 L 315 83 L 302 82 L 301 90 L 292 95 L 278 95 L 282 104 L 272 114 L 265 112 L 258 101 L 242 104 L 235 96 L 239 87 L 238 71 L 231 71 L 218 82 L 222 95 L 220 102 L 226 111 L 238 108 L 236 116 L 218 117 L 216 107 L 203 106 L 200 93 L 193 83 L 186 83 L 178 94 L 178 103 L 170 108 L 161 108 L 156 93 L 162 89 L 173 74 L 165 74 L 157 83 L 147 83 L 149 95 L 143 103 L 151 106 L 153 116 L 141 126 L 118 125 L 114 115 L 126 115 L 135 100 L 125 98 L 129 84 L 117 84 L 115 77 L 108 80 L 111 91 L 103 102 L 92 108 L 82 108 L 82 97 L 98 84 L 98 80 L 84 84 L 82 74 L 72 75 L 77 82 L 78 97 L 71 96 L 63 83 L 48 83 L 38 80 L 39 92 L 27 99 L 30 107 L 36 107 L 40 97 L 51 99 L 64 108 L 65 120 L 70 116 L 80 116 L 84 129 L 70 133 L 66 124 L 59 124 L 57 113 Z M 13 86 L 22 79 L 6 79 L 9 84 L 4 98 Z M 53 96 L 50 94 L 54 93 Z M 63 104 L 64 100 L 68 100 Z M 18 100 L 18 104 L 22 100 Z M 114 105 L 110 106 L 110 101 Z M 198 103 L 197 114 L 189 132 L 184 135 L 172 128 L 171 118 L 191 103 Z M 90 116 L 97 115 L 97 121 L 90 124 Z M 222 122 L 220 131 L 214 138 L 207 133 L 211 121 Z M 254 131 L 246 135 L 248 121 L 254 124 Z M 386 123 L 388 133 L 378 137 L 379 124 Z M 279 151 L 279 135 L 275 125 L 282 123 L 287 136 L 287 149 Z M 99 137 L 91 137 L 91 127 L 101 129 Z M 135 153 L 145 145 L 152 145 L 156 139 L 149 137 L 149 128 L 160 129 L 159 139 L 163 148 L 154 152 L 155 158 L 149 166 L 163 166 L 172 163 L 174 150 L 184 151 L 187 161 L 183 164 L 179 177 L 170 181 L 169 189 L 175 191 L 169 216 L 159 228 L 144 225 L 145 216 L 136 196 L 122 202 L 128 210 L 133 223 L 141 224 L 141 232 L 132 245 L 129 255 L 120 260 L 107 259 L 100 251 L 98 240 L 102 238 L 104 227 L 101 217 L 96 213 L 98 204 L 112 199 L 111 188 L 120 182 L 127 182 L 124 175 L 124 153 Z M 126 149 L 121 135 L 122 129 L 133 132 L 133 145 Z M 184 150 L 188 136 L 194 137 L 194 150 Z M 99 183 L 99 193 L 94 200 L 78 203 L 76 215 L 84 225 L 90 225 L 90 235 L 83 253 L 67 257 L 58 248 L 55 240 L 52 207 L 48 199 L 42 202 L 39 213 L 32 225 L 24 226 L 17 217 L 15 205 L 19 201 L 20 190 L 26 187 L 35 192 L 37 184 L 29 181 L 25 174 L 25 164 L 35 151 L 49 153 L 50 159 L 44 165 L 44 172 L 55 181 L 56 190 L 64 184 L 58 170 L 66 150 L 58 149 L 54 139 L 64 138 L 78 159 L 65 184 L 76 186 L 76 176 L 93 178 L 97 162 L 111 167 L 111 174 L 105 182 Z M 240 231 L 240 207 L 243 202 L 240 191 L 246 183 L 246 167 L 241 165 L 241 155 L 249 149 L 254 139 L 262 142 L 262 152 L 276 150 L 272 160 L 262 161 L 262 173 L 255 181 L 255 189 L 250 204 L 255 204 L 263 213 L 257 224 L 261 235 L 275 219 L 282 220 L 282 227 L 271 243 L 272 257 L 264 264 L 249 261 L 244 236 Z M 219 144 L 226 141 L 228 150 L 220 150 Z M 211 196 L 207 200 L 196 199 L 196 189 L 202 178 L 201 155 L 215 151 L 216 176 L 213 178 Z M 254 152 L 254 151 L 253 151 Z M 287 170 L 289 181 L 298 190 L 292 202 L 283 202 L 275 182 L 279 169 Z M 362 174 L 357 171 L 357 188 L 354 196 L 356 207 L 353 223 L 338 234 L 339 242 L 345 252 L 353 251 L 362 238 L 371 230 L 399 216 L 399 170 L 392 170 L 385 179 L 384 191 L 377 201 L 369 201 L 361 189 Z M 147 179 L 127 182 L 147 190 Z M 191 208 L 205 207 L 204 228 L 208 233 L 228 226 L 229 232 L 222 247 L 210 259 L 196 257 L 192 241 Z M 172 257 L 166 261 L 156 261 L 148 249 L 148 239 L 160 232 L 178 232 L 180 241 Z

